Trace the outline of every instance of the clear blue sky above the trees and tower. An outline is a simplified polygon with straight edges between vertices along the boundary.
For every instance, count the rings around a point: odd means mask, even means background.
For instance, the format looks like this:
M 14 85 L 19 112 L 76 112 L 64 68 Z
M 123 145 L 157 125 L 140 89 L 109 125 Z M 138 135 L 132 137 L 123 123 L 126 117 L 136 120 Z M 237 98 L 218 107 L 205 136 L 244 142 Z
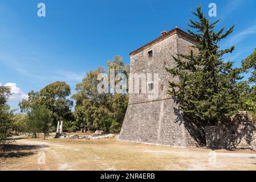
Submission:
M 46 17 L 37 16 L 38 3 L 46 5 Z M 82 81 L 86 72 L 105 65 L 115 55 L 129 63 L 128 53 L 157 38 L 162 30 L 178 26 L 185 30 L 191 10 L 197 5 L 208 14 L 216 3 L 217 28 L 235 31 L 222 47 L 234 45 L 226 59 L 241 60 L 256 48 L 256 1 L 0 1 L 0 83 L 13 87 L 10 105 L 31 90 L 40 90 L 60 80 L 71 85 Z

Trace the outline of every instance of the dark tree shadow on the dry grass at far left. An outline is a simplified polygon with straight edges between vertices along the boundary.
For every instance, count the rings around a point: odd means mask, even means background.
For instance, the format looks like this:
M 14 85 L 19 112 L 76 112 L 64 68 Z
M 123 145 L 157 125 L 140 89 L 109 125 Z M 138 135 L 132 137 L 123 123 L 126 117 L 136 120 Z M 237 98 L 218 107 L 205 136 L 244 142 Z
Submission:
M 6 144 L 0 151 L 0 158 L 22 158 L 35 154 L 34 150 L 45 148 L 45 145 L 17 145 Z

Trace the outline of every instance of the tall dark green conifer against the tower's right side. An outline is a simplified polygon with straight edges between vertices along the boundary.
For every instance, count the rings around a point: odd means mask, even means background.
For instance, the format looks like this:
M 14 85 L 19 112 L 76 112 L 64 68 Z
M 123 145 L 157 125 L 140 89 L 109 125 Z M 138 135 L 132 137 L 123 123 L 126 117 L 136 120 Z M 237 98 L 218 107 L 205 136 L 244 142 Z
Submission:
M 234 30 L 234 26 L 224 32 L 224 28 L 215 32 L 216 24 L 202 13 L 201 6 L 192 13 L 197 20 L 190 19 L 188 30 L 197 44 L 189 55 L 173 56 L 174 68 L 166 70 L 180 78 L 178 82 L 169 82 L 174 101 L 184 114 L 192 114 L 206 121 L 221 122 L 239 109 L 239 97 L 244 88 L 240 68 L 233 68 L 233 62 L 225 62 L 222 56 L 231 53 L 234 46 L 220 49 L 218 43 Z

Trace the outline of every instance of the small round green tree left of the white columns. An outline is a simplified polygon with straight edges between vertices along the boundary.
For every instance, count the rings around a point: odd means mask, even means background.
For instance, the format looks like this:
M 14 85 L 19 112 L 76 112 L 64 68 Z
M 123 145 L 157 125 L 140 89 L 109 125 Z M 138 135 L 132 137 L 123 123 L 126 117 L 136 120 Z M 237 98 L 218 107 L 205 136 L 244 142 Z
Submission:
M 27 126 L 34 138 L 36 138 L 36 133 L 42 132 L 45 139 L 51 130 L 52 111 L 42 105 L 31 106 L 31 109 L 27 111 Z

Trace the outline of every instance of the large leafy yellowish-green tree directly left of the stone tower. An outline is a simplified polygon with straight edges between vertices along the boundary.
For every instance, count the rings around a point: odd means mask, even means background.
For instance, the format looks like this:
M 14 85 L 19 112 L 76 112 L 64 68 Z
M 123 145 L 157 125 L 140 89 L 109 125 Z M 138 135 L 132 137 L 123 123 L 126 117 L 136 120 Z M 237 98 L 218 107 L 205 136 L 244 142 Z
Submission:
M 115 56 L 113 60 L 107 61 L 108 69 L 103 67 L 97 68 L 95 71 L 90 71 L 83 78 L 82 83 L 76 85 L 77 93 L 72 96 L 76 101 L 74 115 L 80 123 L 85 123 L 88 129 L 109 131 L 112 123 L 119 123 L 118 129 L 121 129 L 125 111 L 128 105 L 127 94 L 113 93 L 109 87 L 109 93 L 98 93 L 97 85 L 100 83 L 97 80 L 99 73 L 105 73 L 110 78 L 111 69 L 115 73 L 123 73 L 128 76 L 129 66 L 123 63 L 120 56 Z M 115 80 L 115 83 L 119 80 Z

